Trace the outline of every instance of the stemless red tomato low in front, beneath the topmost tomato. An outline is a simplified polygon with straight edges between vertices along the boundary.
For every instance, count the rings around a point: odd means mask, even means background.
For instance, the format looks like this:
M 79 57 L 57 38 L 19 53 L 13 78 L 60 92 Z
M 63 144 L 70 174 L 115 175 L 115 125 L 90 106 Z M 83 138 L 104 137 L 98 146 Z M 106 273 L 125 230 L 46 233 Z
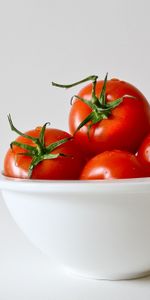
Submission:
M 122 179 L 145 176 L 143 167 L 134 154 L 113 150 L 91 158 L 84 166 L 80 179 Z

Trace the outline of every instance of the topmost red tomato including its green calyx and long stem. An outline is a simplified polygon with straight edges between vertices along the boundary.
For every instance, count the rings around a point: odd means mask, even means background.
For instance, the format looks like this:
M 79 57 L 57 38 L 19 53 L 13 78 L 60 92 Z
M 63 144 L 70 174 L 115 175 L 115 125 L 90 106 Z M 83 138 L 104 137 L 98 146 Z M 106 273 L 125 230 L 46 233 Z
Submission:
M 69 114 L 70 133 L 87 155 L 114 149 L 136 153 L 150 131 L 150 104 L 132 84 L 107 77 L 52 85 L 71 88 L 92 81 L 73 96 Z

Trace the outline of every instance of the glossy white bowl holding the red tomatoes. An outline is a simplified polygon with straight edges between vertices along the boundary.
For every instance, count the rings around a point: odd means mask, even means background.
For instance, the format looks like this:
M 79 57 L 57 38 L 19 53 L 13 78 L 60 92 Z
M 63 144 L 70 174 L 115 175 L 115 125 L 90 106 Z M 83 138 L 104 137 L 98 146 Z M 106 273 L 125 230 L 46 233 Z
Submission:
M 36 181 L 1 176 L 18 226 L 64 270 L 95 279 L 150 273 L 150 178 Z

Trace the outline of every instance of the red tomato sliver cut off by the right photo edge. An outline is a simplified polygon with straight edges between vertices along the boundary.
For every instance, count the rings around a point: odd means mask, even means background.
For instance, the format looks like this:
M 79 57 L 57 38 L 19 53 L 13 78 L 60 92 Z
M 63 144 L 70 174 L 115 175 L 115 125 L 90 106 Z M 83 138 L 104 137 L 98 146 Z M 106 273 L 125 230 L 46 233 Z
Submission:
M 144 166 L 147 175 L 150 176 L 150 134 L 143 140 L 138 150 L 137 158 Z

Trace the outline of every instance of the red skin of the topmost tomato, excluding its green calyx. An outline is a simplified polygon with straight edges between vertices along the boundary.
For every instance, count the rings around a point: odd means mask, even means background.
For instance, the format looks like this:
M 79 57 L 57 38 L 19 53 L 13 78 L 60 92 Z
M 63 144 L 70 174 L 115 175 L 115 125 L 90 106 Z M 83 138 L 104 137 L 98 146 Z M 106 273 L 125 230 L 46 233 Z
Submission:
M 96 96 L 99 97 L 104 81 L 97 81 Z M 85 86 L 78 96 L 90 100 L 92 84 Z M 90 129 L 84 125 L 75 134 L 75 139 L 87 154 L 93 156 L 106 150 L 120 149 L 136 153 L 143 138 L 150 130 L 150 105 L 144 95 L 130 83 L 111 79 L 106 85 L 106 102 L 125 97 L 123 102 L 114 108 L 108 119 L 103 119 Z M 70 115 L 69 130 L 73 135 L 79 124 L 90 114 L 91 108 L 75 99 Z

